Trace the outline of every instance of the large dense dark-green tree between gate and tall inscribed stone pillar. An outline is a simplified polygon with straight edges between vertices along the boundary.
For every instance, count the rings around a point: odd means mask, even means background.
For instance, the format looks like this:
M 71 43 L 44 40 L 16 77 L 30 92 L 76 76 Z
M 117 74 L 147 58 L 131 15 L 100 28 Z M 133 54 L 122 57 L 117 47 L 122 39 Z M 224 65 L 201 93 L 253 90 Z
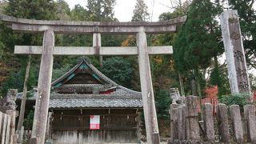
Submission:
M 187 12 L 187 20 L 174 43 L 174 61 L 181 72 L 194 70 L 201 97 L 200 69 L 210 66 L 211 58 L 221 49 L 220 30 L 214 19 L 220 8 L 210 0 L 194 0 Z

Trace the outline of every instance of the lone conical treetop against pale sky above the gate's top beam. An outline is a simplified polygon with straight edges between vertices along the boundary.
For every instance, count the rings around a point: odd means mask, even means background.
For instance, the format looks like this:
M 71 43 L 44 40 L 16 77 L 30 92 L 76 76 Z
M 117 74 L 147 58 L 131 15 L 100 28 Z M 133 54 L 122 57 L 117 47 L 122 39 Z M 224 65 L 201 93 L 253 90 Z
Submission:
M 134 7 L 134 15 L 131 18 L 132 22 L 147 22 L 150 20 L 150 13 L 147 10 L 146 3 L 143 0 L 137 0 Z

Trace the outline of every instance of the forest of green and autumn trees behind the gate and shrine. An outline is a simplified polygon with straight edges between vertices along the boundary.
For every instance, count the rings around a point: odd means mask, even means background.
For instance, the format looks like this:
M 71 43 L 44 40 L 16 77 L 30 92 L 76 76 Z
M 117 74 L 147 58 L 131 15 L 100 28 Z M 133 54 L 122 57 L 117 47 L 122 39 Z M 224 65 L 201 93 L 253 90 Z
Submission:
M 159 21 L 187 16 L 175 34 L 148 34 L 148 46 L 174 46 L 173 55 L 150 56 L 158 118 L 168 118 L 169 89 L 178 87 L 182 95 L 199 98 L 230 94 L 219 15 L 228 8 L 238 10 L 248 69 L 256 69 L 256 13 L 254 0 L 170 0 L 171 11 L 159 16 Z M 115 0 L 88 0 L 86 7 L 76 5 L 71 10 L 64 0 L 6 0 L 0 2 L 0 14 L 16 18 L 106 21 L 114 18 Z M 149 22 L 150 13 L 143 0 L 137 0 L 131 22 Z M 41 56 L 15 55 L 15 45 L 42 45 L 42 34 L 14 33 L 0 23 L 0 96 L 7 89 L 24 86 L 28 91 L 37 86 Z M 92 34 L 56 34 L 55 46 L 92 46 Z M 136 46 L 135 35 L 102 34 L 102 46 Z M 65 74 L 82 58 L 54 56 L 53 78 Z M 103 74 L 121 86 L 140 91 L 137 56 L 90 57 Z M 29 73 L 28 73 L 29 72 Z M 256 89 L 255 74 L 250 74 L 252 90 Z M 27 78 L 25 77 L 27 75 Z M 25 81 L 25 82 L 24 82 Z M 214 94 L 213 94 L 214 92 Z M 30 94 L 28 94 L 30 97 Z

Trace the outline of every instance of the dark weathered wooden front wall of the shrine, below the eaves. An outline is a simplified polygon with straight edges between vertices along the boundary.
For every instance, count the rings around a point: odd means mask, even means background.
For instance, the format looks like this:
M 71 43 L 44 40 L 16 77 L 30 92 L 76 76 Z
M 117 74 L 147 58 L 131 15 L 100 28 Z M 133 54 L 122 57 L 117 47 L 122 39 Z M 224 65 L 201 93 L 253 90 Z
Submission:
M 138 142 L 138 110 L 53 110 L 54 143 Z M 90 130 L 90 115 L 100 115 L 100 130 Z

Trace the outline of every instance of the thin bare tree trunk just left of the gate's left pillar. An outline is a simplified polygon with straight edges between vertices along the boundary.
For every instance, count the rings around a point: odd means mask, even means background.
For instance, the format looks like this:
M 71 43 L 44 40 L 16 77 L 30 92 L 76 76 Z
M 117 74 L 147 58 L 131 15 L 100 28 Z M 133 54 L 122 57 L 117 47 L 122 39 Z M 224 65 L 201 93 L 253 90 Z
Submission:
M 17 130 L 21 130 L 21 128 L 23 126 L 23 121 L 24 121 L 25 106 L 26 106 L 27 80 L 30 76 L 30 63 L 31 63 L 31 55 L 29 55 L 29 59 L 26 63 L 26 74 L 25 74 L 25 80 L 24 80 L 24 85 L 23 85 L 22 104 L 21 104 L 21 109 L 20 109 L 20 113 L 19 113 L 19 117 L 18 117 Z

